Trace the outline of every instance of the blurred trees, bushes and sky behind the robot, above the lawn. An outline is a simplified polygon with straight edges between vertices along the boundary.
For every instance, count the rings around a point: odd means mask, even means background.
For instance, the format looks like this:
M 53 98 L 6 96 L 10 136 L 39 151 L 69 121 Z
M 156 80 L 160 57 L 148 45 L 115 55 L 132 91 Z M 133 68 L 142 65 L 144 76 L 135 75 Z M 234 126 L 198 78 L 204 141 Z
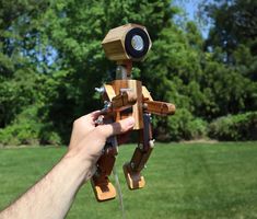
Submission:
M 160 141 L 257 139 L 257 1 L 0 1 L 0 145 L 67 145 L 72 122 L 102 108 L 94 88 L 115 64 L 101 42 L 126 23 L 153 46 L 135 65 L 155 100 Z

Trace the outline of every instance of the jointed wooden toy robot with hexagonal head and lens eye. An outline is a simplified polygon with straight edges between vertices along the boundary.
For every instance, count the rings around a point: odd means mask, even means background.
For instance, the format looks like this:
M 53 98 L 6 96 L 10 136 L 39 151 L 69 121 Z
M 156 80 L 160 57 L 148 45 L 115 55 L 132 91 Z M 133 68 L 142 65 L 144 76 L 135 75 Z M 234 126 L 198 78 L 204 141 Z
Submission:
M 103 123 L 113 123 L 133 116 L 133 131 L 139 135 L 138 147 L 131 160 L 124 164 L 124 174 L 130 189 L 145 185 L 141 175 L 152 150 L 151 114 L 167 116 L 175 113 L 171 103 L 153 101 L 141 81 L 131 79 L 132 61 L 142 60 L 151 48 L 151 39 L 144 26 L 126 24 L 113 28 L 102 42 L 106 56 L 117 61 L 116 80 L 97 89 L 104 99 Z M 117 147 L 124 136 L 115 136 L 106 141 L 103 154 L 97 161 L 97 171 L 92 177 L 92 187 L 98 201 L 116 197 L 116 191 L 109 182 Z

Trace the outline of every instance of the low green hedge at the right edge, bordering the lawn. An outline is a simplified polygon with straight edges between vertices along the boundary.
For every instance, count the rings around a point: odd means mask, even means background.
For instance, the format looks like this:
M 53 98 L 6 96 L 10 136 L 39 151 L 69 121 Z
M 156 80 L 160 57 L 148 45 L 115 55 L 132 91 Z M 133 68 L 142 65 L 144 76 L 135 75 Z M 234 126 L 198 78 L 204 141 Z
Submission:
M 257 140 L 257 112 L 218 118 L 208 132 L 219 140 Z

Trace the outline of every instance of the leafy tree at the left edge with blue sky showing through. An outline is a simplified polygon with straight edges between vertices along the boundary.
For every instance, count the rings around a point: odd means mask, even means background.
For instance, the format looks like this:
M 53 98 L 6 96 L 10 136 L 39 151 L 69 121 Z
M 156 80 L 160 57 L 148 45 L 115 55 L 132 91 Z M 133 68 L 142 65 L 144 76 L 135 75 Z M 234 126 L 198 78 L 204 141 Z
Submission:
M 47 1 L 0 1 L 0 128 L 37 100 L 36 30 L 46 7 Z

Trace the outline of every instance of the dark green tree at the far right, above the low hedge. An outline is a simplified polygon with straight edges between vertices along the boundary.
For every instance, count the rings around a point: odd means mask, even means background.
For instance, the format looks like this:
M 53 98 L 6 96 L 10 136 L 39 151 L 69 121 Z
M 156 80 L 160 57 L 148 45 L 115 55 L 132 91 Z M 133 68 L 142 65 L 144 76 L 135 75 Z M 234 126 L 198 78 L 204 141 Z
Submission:
M 257 108 L 256 1 L 218 2 L 205 7 L 213 21 L 202 81 L 212 108 L 206 113 L 212 118 Z

